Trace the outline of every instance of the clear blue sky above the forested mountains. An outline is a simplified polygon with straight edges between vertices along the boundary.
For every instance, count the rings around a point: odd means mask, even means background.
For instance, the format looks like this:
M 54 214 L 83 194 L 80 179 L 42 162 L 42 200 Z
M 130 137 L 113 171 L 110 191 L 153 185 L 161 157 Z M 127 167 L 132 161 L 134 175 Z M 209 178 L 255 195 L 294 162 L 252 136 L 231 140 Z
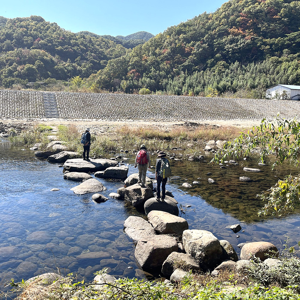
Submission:
M 224 0 L 114 0 L 114 1 L 2 1 L 0 15 L 6 18 L 42 16 L 72 32 L 87 30 L 99 35 L 129 35 L 148 31 L 156 35 L 167 27 L 200 13 L 215 11 Z

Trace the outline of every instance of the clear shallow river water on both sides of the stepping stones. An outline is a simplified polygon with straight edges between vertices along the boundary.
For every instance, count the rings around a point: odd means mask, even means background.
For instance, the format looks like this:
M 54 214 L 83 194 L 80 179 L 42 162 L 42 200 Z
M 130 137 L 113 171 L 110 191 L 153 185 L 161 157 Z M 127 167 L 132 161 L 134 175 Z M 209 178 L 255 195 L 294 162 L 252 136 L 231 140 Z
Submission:
M 129 156 L 128 156 L 129 157 Z M 132 162 L 133 158 L 126 162 Z M 207 159 L 209 161 L 209 158 Z M 219 239 L 228 240 L 237 253 L 237 244 L 246 241 L 270 241 L 283 248 L 287 236 L 290 244 L 300 241 L 299 212 L 282 218 L 259 218 L 262 202 L 255 196 L 275 184 L 284 174 L 297 174 L 288 165 L 261 173 L 244 172 L 243 167 L 258 167 L 257 162 L 239 161 L 239 166 L 221 169 L 198 162 L 171 161 L 173 177 L 167 190 L 173 192 L 183 208 L 190 229 L 205 229 Z M 46 271 L 73 272 L 77 278 L 91 280 L 104 267 L 115 276 L 144 277 L 134 258 L 134 243 L 124 234 L 123 223 L 129 215 L 145 215 L 130 204 L 109 199 L 95 203 L 91 194 L 75 195 L 70 188 L 78 183 L 64 180 L 58 164 L 34 157 L 29 149 L 0 143 L 0 280 L 28 279 Z M 153 170 L 154 171 L 154 170 Z M 129 165 L 128 175 L 136 169 Z M 211 173 L 211 175 L 207 175 Z M 154 177 L 152 171 L 149 177 Z M 248 176 L 252 182 L 240 182 Z M 216 183 L 210 184 L 211 177 Z M 197 179 L 200 178 L 200 179 Z M 199 184 L 182 187 L 183 182 Z M 105 196 L 124 183 L 101 179 Z M 51 188 L 59 191 L 51 192 Z M 239 238 L 228 227 L 240 223 L 245 232 Z M 99 258 L 79 260 L 81 253 L 100 252 Z

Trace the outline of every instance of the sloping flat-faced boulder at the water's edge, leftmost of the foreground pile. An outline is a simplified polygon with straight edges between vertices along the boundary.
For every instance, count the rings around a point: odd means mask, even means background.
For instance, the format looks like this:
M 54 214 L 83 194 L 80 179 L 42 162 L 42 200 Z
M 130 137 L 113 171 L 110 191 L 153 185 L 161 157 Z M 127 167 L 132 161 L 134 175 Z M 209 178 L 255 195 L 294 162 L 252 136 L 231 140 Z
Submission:
M 128 217 L 124 222 L 124 231 L 134 241 L 156 235 L 155 229 L 145 219 L 136 216 Z

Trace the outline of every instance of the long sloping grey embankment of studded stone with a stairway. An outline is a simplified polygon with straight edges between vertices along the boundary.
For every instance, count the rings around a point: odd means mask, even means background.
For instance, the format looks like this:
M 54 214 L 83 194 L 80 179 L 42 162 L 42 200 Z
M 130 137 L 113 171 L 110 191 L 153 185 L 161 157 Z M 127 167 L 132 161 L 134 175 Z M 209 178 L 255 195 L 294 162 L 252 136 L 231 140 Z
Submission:
M 0 119 L 251 120 L 278 113 L 285 118 L 299 116 L 300 101 L 0 91 Z

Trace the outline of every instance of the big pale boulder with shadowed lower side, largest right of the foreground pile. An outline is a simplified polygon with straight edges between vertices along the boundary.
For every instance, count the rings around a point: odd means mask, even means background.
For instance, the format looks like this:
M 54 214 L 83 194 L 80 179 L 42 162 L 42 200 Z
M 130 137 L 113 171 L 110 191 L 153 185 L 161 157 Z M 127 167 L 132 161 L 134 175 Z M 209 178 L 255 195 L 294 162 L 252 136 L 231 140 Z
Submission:
M 184 230 L 182 243 L 186 253 L 193 256 L 204 267 L 215 267 L 220 264 L 223 254 L 219 240 L 207 230 Z

